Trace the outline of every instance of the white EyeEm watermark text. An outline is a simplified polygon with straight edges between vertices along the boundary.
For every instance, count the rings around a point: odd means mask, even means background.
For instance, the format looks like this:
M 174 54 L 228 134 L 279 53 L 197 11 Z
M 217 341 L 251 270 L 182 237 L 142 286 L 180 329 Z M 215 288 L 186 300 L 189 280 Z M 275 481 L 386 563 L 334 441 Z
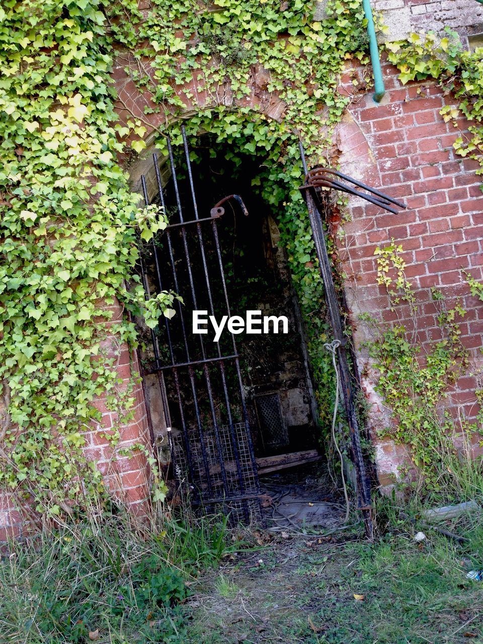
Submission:
M 208 326 L 214 329 L 213 342 L 218 342 L 225 326 L 230 333 L 288 333 L 289 320 L 285 316 L 262 316 L 261 311 L 247 311 L 245 317 L 223 316 L 220 323 L 207 311 L 193 311 L 193 333 L 207 334 Z M 281 330 L 280 330 L 281 328 Z

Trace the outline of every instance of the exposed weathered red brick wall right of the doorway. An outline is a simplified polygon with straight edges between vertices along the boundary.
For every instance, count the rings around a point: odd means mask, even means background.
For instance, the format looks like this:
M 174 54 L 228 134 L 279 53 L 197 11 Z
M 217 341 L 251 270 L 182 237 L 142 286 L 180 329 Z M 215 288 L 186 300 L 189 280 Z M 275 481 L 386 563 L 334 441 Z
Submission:
M 345 91 L 361 70 L 352 69 L 343 77 Z M 408 209 L 390 214 L 356 199 L 350 202 L 352 222 L 344 225 L 345 238 L 340 244 L 343 269 L 348 275 L 346 294 L 354 323 L 355 342 L 366 339 L 365 328 L 357 322 L 361 312 L 380 316 L 384 321 L 399 319 L 409 330 L 413 320 L 406 306 L 392 312 L 384 287 L 376 282 L 377 246 L 392 238 L 403 246 L 406 276 L 415 289 L 422 311 L 417 319 L 417 337 L 422 353 L 441 338 L 437 310 L 431 287 L 437 287 L 451 307 L 458 299 L 468 313 L 460 325 L 462 344 L 471 355 L 471 373 L 461 377 L 450 392 L 448 407 L 453 414 L 473 419 L 478 411 L 475 389 L 483 368 L 479 348 L 483 345 L 483 305 L 469 293 L 462 270 L 474 278 L 483 278 L 483 194 L 481 180 L 475 175 L 477 164 L 455 155 L 453 142 L 460 136 L 444 122 L 440 109 L 453 104 L 433 82 L 401 85 L 398 71 L 383 66 L 386 95 L 376 105 L 370 94 L 356 97 L 349 113 L 339 126 L 338 146 L 343 172 L 369 185 L 380 185 Z M 461 130 L 467 123 L 460 121 Z M 373 403 L 372 430 L 384 430 L 391 422 L 383 401 L 374 393 L 375 374 L 361 352 L 364 386 Z M 375 438 L 375 437 L 374 437 Z M 390 440 L 379 441 L 377 465 L 382 484 L 397 473 L 405 452 Z M 475 452 L 480 451 L 475 445 Z

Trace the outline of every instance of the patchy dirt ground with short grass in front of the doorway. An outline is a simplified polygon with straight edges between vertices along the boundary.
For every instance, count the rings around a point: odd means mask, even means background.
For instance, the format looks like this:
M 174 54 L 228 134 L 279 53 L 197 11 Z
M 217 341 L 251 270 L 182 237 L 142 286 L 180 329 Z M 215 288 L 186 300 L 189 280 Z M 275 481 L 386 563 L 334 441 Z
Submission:
M 375 547 L 379 554 L 386 545 Z M 189 600 L 191 641 L 483 641 L 483 591 L 466 582 L 462 571 L 453 571 L 455 583 L 448 584 L 440 576 L 449 571 L 433 567 L 431 553 L 430 569 L 420 569 L 418 551 L 413 573 L 401 570 L 404 561 L 397 560 L 392 574 L 377 574 L 371 570 L 372 548 L 354 535 L 277 536 L 258 550 L 235 556 L 196 584 Z

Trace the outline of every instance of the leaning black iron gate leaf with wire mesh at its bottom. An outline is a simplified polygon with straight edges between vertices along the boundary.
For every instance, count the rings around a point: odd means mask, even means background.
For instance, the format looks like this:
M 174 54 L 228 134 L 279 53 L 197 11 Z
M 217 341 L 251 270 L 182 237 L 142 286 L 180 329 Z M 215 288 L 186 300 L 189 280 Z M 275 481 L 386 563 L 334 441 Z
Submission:
M 211 212 L 198 213 L 184 128 L 182 136 L 184 159 L 178 167 L 167 140 L 167 187 L 154 155 L 157 194 L 152 202 L 164 207 L 169 225 L 141 249 L 141 272 L 148 295 L 173 290 L 183 303 L 175 301 L 175 316 L 151 332 L 154 359 L 145 372 L 159 376 L 171 459 L 176 477 L 191 491 L 191 502 L 208 511 L 222 506 L 234 522 L 260 520 L 260 486 L 234 335 L 225 330 L 214 342 L 209 325 L 204 334 L 191 332 L 193 311 L 217 320 L 230 317 L 217 221 L 227 200 L 247 211 L 240 196 L 230 195 Z M 144 176 L 142 187 L 148 204 Z

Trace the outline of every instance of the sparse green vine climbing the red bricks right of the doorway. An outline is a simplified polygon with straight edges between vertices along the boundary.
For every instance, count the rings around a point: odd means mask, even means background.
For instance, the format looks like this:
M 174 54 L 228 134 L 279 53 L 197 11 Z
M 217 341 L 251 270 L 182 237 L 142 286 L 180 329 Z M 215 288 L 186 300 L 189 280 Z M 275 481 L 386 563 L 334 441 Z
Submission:
M 421 310 L 404 272 L 402 252 L 403 247 L 394 242 L 375 250 L 377 283 L 386 288 L 391 310 L 398 312 L 401 306 L 408 307 L 411 325 L 381 326 L 368 314 L 360 317 L 374 336 L 366 342 L 366 348 L 379 372 L 376 390 L 392 412 L 393 424 L 383 430 L 383 435 L 408 446 L 419 470 L 419 484 L 424 480 L 426 489 L 438 489 L 444 454 L 454 450 L 454 419 L 441 403 L 448 395 L 448 387 L 468 366 L 468 353 L 459 339 L 459 323 L 466 311 L 459 302 L 447 308 L 440 290 L 431 289 L 442 339 L 423 350 L 417 331 Z

